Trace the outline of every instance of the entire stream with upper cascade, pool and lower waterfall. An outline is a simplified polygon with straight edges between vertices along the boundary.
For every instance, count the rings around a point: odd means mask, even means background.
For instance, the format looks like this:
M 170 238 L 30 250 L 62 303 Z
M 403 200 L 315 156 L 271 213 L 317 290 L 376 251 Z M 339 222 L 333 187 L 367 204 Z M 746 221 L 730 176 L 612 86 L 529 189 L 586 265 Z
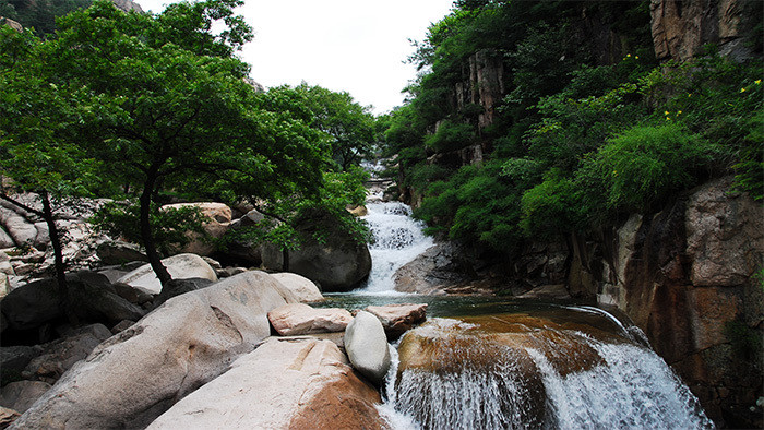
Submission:
M 368 204 L 365 286 L 329 294 L 348 310 L 427 303 L 393 349 L 380 411 L 395 429 L 702 429 L 697 399 L 618 313 L 501 297 L 394 290 L 397 268 L 432 246 L 399 202 Z M 399 357 L 399 358 L 398 358 Z

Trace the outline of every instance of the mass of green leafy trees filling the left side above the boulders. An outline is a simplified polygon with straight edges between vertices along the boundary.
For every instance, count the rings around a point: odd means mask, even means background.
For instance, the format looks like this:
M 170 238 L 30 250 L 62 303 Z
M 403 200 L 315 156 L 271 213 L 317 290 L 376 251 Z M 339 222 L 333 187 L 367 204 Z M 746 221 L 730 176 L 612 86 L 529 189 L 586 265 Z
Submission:
M 345 206 L 362 203 L 360 157 L 373 117 L 347 94 L 320 87 L 258 92 L 236 51 L 252 29 L 239 0 L 169 5 L 158 15 L 96 1 L 44 38 L 0 26 L 0 198 L 38 193 L 63 279 L 56 202 L 106 196 L 97 220 L 139 240 L 159 262 L 192 212 L 177 201 L 249 203 L 267 215 L 260 240 L 299 246 L 295 223 L 321 213 L 362 239 Z M 224 31 L 213 31 L 224 26 Z

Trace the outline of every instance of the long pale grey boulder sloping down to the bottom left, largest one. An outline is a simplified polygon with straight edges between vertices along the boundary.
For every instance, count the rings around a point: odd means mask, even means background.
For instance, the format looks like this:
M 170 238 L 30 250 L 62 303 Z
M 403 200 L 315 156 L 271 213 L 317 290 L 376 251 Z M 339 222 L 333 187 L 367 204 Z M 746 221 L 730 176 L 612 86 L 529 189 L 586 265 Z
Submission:
M 295 297 L 247 272 L 175 297 L 77 362 L 19 429 L 142 428 L 270 335 L 267 312 Z

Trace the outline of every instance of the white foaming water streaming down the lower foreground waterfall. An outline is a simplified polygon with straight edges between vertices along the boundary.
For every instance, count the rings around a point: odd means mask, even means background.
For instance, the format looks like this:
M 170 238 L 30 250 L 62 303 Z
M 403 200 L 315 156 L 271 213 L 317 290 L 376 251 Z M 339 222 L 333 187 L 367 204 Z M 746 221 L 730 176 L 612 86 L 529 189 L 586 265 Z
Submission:
M 416 330 L 435 343 L 462 336 L 453 331 L 445 334 L 442 327 L 469 327 L 454 320 L 434 322 Z M 394 357 L 381 411 L 395 429 L 714 428 L 690 390 L 652 349 L 565 332 L 594 348 L 604 362 L 561 375 L 545 353 L 526 347 L 537 368 L 537 372 L 528 373 L 516 349 L 505 347 L 497 354 L 496 346 L 474 338 L 457 343 L 469 345 L 468 351 L 447 348 L 445 356 L 437 357 L 439 361 L 455 359 L 459 363 L 456 369 L 407 369 L 398 373 Z M 492 357 L 490 365 L 473 366 L 482 354 Z M 545 392 L 540 404 L 535 389 L 539 383 Z M 542 411 L 535 413 L 539 407 Z

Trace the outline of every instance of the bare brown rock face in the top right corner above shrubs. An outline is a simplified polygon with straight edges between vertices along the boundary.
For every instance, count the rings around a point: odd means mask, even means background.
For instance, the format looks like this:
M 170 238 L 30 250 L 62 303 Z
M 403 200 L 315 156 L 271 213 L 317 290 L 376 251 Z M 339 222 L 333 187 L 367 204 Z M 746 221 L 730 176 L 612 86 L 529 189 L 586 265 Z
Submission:
M 653 45 L 658 60 L 685 61 L 701 53 L 706 44 L 736 60 L 750 58 L 744 46 L 749 14 L 761 19 L 756 2 L 744 0 L 653 0 Z

